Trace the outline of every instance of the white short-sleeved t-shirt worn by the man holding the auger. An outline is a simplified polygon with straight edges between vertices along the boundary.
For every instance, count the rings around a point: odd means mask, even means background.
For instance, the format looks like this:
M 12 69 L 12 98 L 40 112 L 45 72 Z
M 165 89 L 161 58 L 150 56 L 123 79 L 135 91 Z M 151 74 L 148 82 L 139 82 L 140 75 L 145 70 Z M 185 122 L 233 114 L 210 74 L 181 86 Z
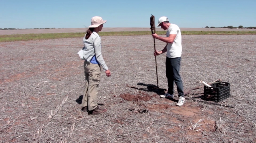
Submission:
M 170 34 L 177 34 L 173 43 L 168 43 L 166 56 L 169 58 L 181 57 L 182 46 L 181 46 L 181 30 L 176 24 L 170 24 L 166 32 L 166 37 Z

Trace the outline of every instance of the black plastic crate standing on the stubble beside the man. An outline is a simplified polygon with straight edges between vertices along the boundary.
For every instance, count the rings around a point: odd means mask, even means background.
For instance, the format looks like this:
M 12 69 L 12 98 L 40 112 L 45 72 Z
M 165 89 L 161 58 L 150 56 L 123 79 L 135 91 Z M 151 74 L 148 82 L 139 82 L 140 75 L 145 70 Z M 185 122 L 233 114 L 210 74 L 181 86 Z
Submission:
M 230 97 L 230 84 L 228 82 L 215 83 L 210 86 L 204 86 L 204 100 L 219 102 Z

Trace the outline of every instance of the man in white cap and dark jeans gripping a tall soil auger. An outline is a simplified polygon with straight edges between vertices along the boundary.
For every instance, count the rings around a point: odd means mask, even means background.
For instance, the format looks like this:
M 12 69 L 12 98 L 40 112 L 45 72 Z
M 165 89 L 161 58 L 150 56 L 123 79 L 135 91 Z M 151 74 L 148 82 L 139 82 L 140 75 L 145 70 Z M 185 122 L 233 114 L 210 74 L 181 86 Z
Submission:
M 160 55 L 166 53 L 166 78 L 168 80 L 168 92 L 164 95 L 161 95 L 161 98 L 173 98 L 173 86 L 174 83 L 177 86 L 177 91 L 179 95 L 179 102 L 177 106 L 182 106 L 185 102 L 184 93 L 183 93 L 183 83 L 181 76 L 179 74 L 180 65 L 181 65 L 181 30 L 178 25 L 169 23 L 167 17 L 160 17 L 158 20 L 158 27 L 161 26 L 162 29 L 167 30 L 166 37 L 160 37 L 157 34 L 152 34 L 152 37 L 159 39 L 166 44 L 162 51 L 155 51 L 154 55 Z

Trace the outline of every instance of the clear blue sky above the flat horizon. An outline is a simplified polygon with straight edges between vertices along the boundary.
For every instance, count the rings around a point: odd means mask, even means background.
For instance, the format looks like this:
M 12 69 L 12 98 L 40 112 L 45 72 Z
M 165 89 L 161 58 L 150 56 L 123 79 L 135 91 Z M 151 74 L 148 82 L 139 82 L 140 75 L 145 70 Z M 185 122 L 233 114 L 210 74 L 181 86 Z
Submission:
M 256 0 L 1 0 L 0 28 L 150 27 L 166 16 L 179 27 L 256 26 Z

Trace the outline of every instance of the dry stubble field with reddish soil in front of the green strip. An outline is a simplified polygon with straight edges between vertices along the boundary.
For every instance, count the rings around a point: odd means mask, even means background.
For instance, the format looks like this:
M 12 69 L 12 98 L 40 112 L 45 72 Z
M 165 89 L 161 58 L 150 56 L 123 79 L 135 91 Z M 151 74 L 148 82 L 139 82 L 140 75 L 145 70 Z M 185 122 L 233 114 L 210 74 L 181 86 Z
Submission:
M 164 36 L 164 35 L 162 35 Z M 227 108 L 159 95 L 167 89 L 165 54 L 151 36 L 102 37 L 111 77 L 102 71 L 98 104 L 105 114 L 81 111 L 82 37 L 0 43 L 1 142 L 255 142 L 255 35 L 183 35 L 184 89 L 198 80 L 231 84 Z M 156 49 L 165 43 L 156 40 Z M 199 97 L 203 89 L 186 97 Z M 175 96 L 177 90 L 175 86 Z

